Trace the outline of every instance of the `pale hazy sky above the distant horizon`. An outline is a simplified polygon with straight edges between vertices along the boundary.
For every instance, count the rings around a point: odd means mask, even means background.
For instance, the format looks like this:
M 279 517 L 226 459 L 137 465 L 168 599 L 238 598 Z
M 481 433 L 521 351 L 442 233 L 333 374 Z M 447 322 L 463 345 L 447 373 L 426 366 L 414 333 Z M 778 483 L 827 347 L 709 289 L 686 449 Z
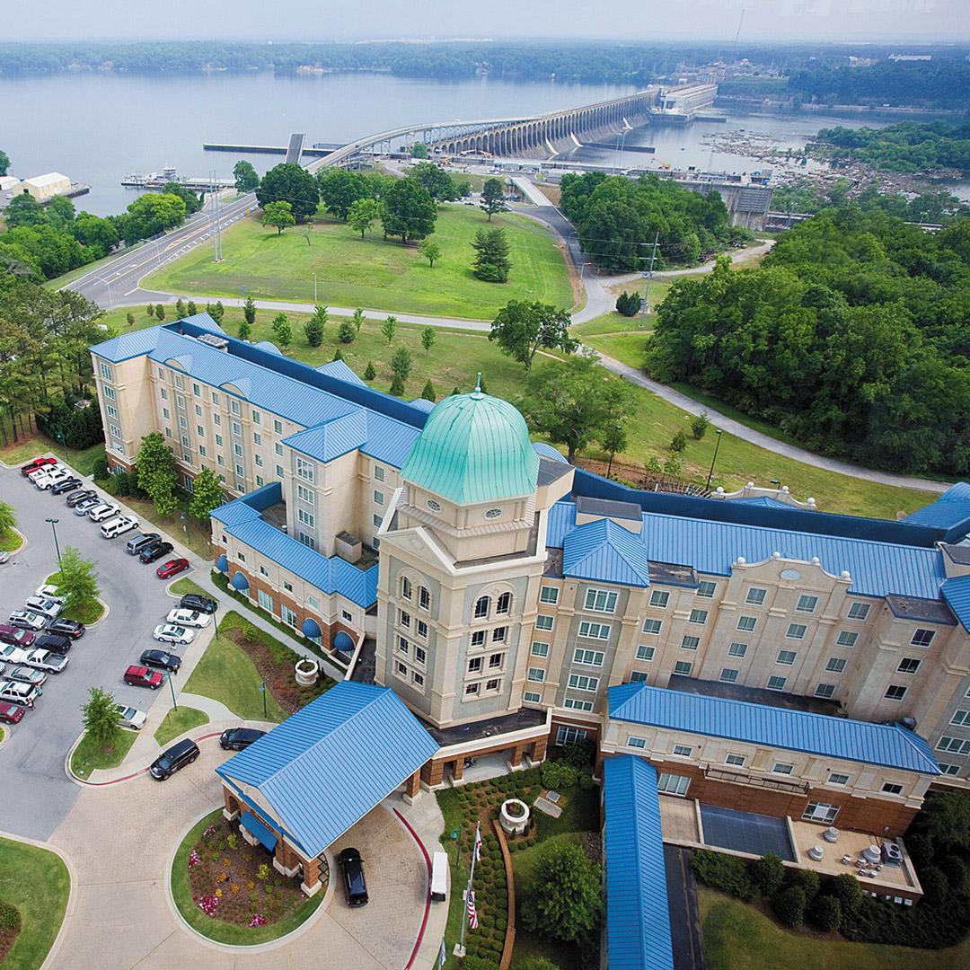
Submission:
M 970 38 L 970 0 L 3 0 L 0 40 Z

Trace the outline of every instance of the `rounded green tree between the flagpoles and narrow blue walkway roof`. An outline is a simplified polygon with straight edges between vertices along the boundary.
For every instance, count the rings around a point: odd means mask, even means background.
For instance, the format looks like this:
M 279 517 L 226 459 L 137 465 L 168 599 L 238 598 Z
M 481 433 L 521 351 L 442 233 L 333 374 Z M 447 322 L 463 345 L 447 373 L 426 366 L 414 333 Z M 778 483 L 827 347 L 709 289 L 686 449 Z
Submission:
M 523 901 L 527 929 L 566 943 L 594 938 L 602 913 L 599 867 L 575 843 L 549 846 L 535 863 Z

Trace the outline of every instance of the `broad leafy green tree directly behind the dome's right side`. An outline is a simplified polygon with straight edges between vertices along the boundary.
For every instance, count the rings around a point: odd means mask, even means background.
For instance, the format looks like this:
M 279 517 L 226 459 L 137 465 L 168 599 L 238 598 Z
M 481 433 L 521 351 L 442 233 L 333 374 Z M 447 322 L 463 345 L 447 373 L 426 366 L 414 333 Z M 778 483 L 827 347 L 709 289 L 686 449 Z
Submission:
M 591 357 L 551 361 L 526 378 L 520 410 L 533 431 L 566 445 L 566 458 L 630 416 L 635 392 Z

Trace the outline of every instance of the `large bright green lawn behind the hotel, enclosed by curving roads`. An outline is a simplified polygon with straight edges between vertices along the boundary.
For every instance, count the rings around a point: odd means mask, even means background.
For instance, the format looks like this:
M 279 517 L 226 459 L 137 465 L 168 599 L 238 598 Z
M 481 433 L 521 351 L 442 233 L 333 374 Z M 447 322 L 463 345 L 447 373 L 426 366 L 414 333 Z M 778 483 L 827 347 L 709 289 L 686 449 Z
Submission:
M 205 246 L 186 253 L 146 281 L 160 292 L 254 299 L 313 298 L 313 274 L 320 302 L 335 307 L 372 307 L 391 312 L 429 313 L 491 319 L 509 300 L 535 299 L 558 307 L 574 303 L 563 254 L 543 226 L 513 213 L 493 218 L 510 244 L 512 271 L 503 284 L 476 279 L 469 243 L 489 225 L 484 212 L 463 205 L 438 211 L 435 242 L 441 259 L 434 268 L 415 245 L 384 241 L 379 226 L 361 239 L 348 225 L 318 219 L 309 237 L 301 228 L 277 235 L 256 216 L 222 235 L 225 258 L 214 263 Z

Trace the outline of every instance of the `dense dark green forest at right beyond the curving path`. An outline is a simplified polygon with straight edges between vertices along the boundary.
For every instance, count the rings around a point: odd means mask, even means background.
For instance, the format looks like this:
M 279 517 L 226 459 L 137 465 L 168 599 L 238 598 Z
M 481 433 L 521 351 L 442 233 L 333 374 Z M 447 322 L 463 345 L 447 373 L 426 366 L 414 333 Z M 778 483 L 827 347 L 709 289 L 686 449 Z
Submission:
M 758 270 L 727 260 L 660 307 L 645 364 L 824 454 L 970 472 L 970 219 L 930 234 L 823 210 Z

